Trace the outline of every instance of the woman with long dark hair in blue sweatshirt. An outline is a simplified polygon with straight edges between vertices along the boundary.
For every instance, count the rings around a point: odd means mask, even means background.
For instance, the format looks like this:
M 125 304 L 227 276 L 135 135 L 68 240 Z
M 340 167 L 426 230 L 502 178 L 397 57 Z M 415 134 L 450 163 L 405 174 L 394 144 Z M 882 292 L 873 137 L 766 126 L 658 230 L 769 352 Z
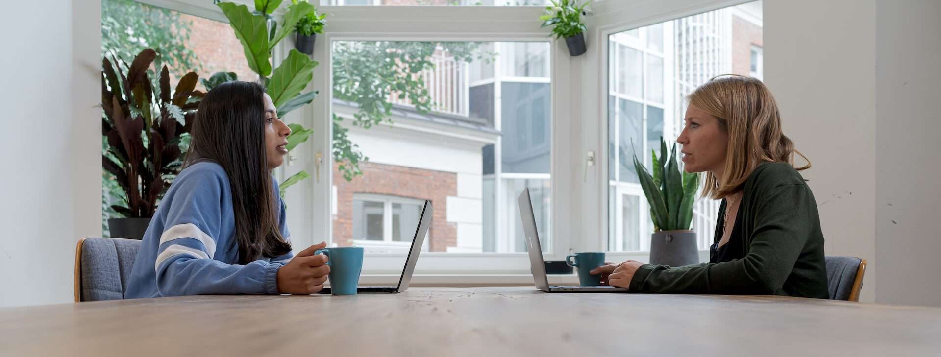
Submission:
M 311 294 L 330 268 L 313 245 L 293 256 L 271 170 L 291 129 L 262 85 L 229 82 L 199 104 L 183 171 L 154 214 L 125 298 Z

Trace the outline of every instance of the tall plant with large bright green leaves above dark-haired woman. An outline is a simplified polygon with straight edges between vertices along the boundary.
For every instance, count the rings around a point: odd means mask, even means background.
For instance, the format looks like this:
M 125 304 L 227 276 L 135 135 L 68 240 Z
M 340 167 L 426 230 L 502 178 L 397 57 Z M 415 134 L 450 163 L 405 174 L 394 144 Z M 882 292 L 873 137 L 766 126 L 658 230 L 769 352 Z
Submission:
M 216 1 L 215 5 L 221 8 L 229 18 L 235 37 L 242 43 L 248 67 L 258 74 L 259 80 L 267 87 L 268 96 L 278 108 L 278 115 L 284 116 L 311 103 L 317 97 L 315 90 L 307 93 L 301 92 L 311 83 L 313 69 L 318 64 L 307 55 L 291 50 L 278 68 L 272 69 L 271 53 L 275 46 L 291 31 L 294 31 L 301 19 L 315 11 L 313 6 L 306 1 L 293 1 L 284 14 L 283 23 L 279 26 L 272 14 L 281 3 L 282 0 L 255 0 L 254 11 L 248 11 L 245 5 L 233 3 Z M 202 84 L 210 89 L 215 85 L 237 80 L 238 76 L 235 73 L 217 72 Z M 292 125 L 294 132 L 288 136 L 288 142 L 293 145 L 289 145 L 288 150 L 303 143 L 311 135 L 311 131 L 296 124 Z M 301 171 L 285 179 L 280 185 L 281 194 L 283 195 L 284 190 L 296 182 L 310 177 L 311 175 L 306 171 Z

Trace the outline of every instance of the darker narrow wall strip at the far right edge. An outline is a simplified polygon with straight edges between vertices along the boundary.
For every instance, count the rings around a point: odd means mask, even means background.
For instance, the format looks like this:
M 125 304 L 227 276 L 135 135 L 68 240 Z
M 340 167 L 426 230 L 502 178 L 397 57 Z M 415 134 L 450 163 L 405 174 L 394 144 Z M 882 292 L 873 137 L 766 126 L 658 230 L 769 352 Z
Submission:
M 939 16 L 937 0 L 876 2 L 879 303 L 941 306 Z

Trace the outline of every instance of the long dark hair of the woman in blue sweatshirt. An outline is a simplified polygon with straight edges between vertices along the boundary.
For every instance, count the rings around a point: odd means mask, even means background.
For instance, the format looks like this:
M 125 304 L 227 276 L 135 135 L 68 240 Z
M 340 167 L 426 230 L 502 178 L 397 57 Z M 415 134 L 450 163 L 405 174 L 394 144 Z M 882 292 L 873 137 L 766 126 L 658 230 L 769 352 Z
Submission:
M 199 103 L 184 166 L 218 163 L 229 175 L 239 264 L 291 251 L 281 237 L 278 207 L 264 146 L 264 87 L 215 86 Z M 233 242 L 234 244 L 234 242 Z

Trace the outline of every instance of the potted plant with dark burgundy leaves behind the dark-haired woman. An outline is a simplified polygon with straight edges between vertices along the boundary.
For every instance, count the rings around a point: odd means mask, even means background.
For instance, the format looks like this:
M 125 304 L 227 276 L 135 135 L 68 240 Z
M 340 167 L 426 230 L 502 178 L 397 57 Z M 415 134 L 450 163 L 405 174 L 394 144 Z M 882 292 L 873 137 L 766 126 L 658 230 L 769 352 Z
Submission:
M 192 127 L 203 93 L 195 90 L 199 76 L 189 72 L 170 91 L 163 66 L 153 87 L 148 70 L 156 52 L 146 49 L 130 66 L 113 58 L 102 60 L 102 134 L 104 170 L 114 175 L 124 205 L 111 208 L 126 218 L 108 220 L 112 237 L 142 239 L 157 204 L 183 165 L 180 145 Z

